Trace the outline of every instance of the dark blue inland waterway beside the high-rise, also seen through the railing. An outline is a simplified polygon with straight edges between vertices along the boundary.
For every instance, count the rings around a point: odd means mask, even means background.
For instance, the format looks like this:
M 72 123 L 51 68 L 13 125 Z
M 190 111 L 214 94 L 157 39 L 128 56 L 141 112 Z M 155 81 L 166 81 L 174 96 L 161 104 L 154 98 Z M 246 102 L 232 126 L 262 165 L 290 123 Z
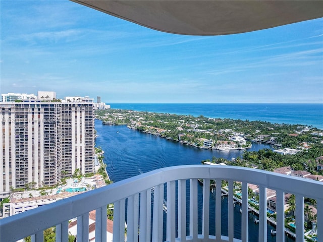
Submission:
M 170 141 L 150 134 L 141 133 L 128 129 L 126 126 L 106 126 L 100 120 L 95 120 L 95 129 L 98 137 L 95 140 L 96 146 L 100 146 L 104 151 L 104 163 L 106 170 L 113 181 L 119 181 L 154 169 L 186 164 L 200 164 L 204 159 L 212 159 L 213 156 L 231 159 L 242 157 L 243 151 L 223 152 L 217 150 L 201 150 L 179 142 Z M 118 133 L 117 133 L 118 131 Z M 271 148 L 263 144 L 253 144 L 250 150 Z M 202 187 L 199 186 L 199 193 Z M 214 200 L 214 194 L 210 196 Z M 199 210 L 202 209 L 202 200 L 199 196 Z M 214 203 L 214 201 L 213 201 Z M 222 233 L 228 234 L 227 200 L 223 199 L 222 207 Z M 210 211 L 215 211 L 210 207 Z M 200 211 L 199 211 L 199 214 Z M 240 207 L 235 207 L 235 236 L 241 237 L 241 214 Z M 210 221 L 214 224 L 214 214 L 210 214 Z M 198 220 L 199 233 L 201 232 L 201 216 Z M 215 225 L 210 228 L 210 233 L 214 233 Z M 272 229 L 268 226 L 268 231 Z M 253 215 L 249 217 L 249 241 L 258 241 L 258 225 L 253 222 Z M 268 234 L 268 241 L 276 241 L 275 237 Z M 293 240 L 286 240 L 293 241 Z

